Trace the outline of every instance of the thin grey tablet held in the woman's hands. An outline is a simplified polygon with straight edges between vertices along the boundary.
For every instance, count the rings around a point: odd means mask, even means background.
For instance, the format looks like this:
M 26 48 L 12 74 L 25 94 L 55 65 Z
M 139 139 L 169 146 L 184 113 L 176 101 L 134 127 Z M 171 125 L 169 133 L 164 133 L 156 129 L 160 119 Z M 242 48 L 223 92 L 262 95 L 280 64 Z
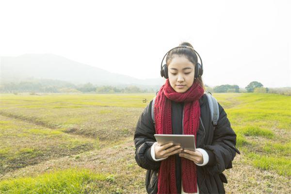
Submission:
M 196 149 L 194 135 L 155 134 L 154 136 L 160 145 L 174 143 L 173 146 L 180 145 L 183 149 L 192 151 Z

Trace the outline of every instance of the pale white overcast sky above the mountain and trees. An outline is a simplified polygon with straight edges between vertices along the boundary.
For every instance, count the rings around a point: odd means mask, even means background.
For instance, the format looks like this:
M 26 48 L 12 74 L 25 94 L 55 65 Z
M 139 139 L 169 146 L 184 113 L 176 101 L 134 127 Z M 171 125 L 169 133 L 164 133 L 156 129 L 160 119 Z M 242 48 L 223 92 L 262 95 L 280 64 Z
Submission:
M 191 43 L 210 86 L 291 87 L 290 0 L 0 0 L 0 56 L 52 53 L 139 79 Z

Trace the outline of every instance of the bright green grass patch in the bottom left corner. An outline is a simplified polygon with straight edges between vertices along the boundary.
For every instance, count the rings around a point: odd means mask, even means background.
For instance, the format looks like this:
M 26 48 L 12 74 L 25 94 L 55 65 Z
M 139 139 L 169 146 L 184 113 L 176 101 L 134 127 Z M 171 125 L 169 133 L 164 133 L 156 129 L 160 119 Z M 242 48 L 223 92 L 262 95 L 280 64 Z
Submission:
M 0 182 L 1 194 L 86 194 L 86 186 L 111 178 L 87 169 L 66 169 L 37 177 L 25 177 Z

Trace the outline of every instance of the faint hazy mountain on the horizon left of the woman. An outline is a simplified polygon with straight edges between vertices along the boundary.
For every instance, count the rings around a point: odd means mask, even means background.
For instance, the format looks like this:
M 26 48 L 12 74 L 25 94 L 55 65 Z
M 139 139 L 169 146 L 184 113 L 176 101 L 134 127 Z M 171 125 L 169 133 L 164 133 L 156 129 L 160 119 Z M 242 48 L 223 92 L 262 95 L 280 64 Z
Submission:
M 1 81 L 23 81 L 28 78 L 69 81 L 74 84 L 161 86 L 163 78 L 136 79 L 111 73 L 98 67 L 78 63 L 54 54 L 24 54 L 1 57 Z

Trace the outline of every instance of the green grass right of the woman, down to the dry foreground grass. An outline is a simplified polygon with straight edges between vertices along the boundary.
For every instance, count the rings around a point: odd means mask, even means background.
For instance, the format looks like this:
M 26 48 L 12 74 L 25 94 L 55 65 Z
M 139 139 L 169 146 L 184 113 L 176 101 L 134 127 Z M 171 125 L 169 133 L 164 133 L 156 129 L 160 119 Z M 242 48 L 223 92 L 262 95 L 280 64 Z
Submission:
M 237 147 L 244 151 L 247 163 L 291 176 L 291 142 L 286 143 L 291 138 L 291 97 L 255 93 L 233 98 L 227 93 L 213 96 L 225 108 L 237 134 Z

